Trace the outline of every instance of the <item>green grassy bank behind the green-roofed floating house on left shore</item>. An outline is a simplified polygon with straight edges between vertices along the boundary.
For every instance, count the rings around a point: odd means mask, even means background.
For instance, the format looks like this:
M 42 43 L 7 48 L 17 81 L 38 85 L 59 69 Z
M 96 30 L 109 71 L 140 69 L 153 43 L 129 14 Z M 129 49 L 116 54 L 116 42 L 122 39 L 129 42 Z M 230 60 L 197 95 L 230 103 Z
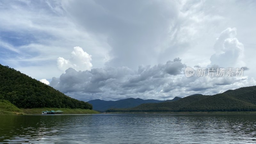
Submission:
M 100 112 L 91 109 L 81 109 L 81 108 L 20 108 L 20 110 L 26 115 L 40 115 L 42 111 L 50 110 L 61 110 L 63 114 L 99 114 Z

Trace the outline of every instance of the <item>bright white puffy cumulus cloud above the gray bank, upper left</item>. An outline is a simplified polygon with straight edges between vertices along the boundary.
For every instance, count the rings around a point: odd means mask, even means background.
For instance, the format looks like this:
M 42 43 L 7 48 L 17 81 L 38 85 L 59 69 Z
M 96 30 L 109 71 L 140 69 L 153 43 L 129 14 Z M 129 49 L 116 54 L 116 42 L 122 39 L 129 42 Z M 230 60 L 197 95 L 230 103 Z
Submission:
M 59 57 L 57 59 L 57 66 L 60 70 L 66 70 L 68 68 L 74 68 L 76 70 L 91 70 L 92 68 L 92 55 L 84 52 L 84 50 L 76 46 L 71 52 L 71 58 L 65 59 Z

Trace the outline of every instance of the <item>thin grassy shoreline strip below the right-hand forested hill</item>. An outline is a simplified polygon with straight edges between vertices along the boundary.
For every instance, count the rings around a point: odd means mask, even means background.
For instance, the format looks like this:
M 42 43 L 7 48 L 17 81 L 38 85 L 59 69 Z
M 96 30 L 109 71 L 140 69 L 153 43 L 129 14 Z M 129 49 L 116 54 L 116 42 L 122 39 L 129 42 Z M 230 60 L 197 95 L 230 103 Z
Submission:
M 210 111 L 210 112 L 109 112 L 105 114 L 256 114 L 256 111 Z

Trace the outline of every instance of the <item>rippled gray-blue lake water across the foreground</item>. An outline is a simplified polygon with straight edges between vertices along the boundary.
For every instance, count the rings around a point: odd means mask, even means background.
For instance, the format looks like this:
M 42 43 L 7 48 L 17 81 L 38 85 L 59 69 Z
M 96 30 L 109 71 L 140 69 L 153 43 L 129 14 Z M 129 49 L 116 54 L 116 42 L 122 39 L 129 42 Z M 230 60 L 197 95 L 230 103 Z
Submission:
M 256 115 L 0 116 L 0 143 L 256 143 Z

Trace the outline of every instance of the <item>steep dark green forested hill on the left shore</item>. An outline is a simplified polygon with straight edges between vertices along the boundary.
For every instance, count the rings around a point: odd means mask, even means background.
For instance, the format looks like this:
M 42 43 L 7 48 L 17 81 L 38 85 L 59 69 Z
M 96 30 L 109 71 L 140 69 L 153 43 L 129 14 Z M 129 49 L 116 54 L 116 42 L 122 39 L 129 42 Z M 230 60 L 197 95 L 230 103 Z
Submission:
M 18 108 L 83 108 L 92 105 L 73 99 L 19 71 L 0 64 L 0 99 Z

